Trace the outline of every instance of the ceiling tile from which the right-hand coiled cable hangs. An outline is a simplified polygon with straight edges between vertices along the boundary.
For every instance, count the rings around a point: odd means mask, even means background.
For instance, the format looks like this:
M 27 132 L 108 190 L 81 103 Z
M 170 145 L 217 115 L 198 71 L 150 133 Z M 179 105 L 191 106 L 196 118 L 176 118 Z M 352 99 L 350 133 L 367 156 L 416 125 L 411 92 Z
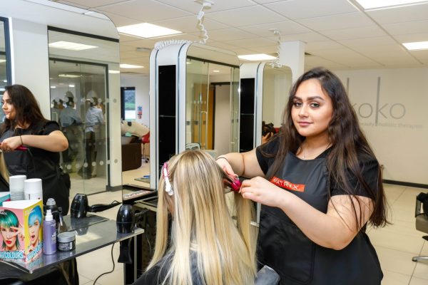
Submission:
M 270 29 L 272 28 L 275 28 L 277 31 L 279 31 L 281 35 L 310 32 L 308 28 L 305 28 L 304 26 L 294 21 L 280 21 L 270 24 L 259 24 L 240 27 L 241 30 L 254 33 L 258 36 L 273 36 L 273 32 L 270 31 Z

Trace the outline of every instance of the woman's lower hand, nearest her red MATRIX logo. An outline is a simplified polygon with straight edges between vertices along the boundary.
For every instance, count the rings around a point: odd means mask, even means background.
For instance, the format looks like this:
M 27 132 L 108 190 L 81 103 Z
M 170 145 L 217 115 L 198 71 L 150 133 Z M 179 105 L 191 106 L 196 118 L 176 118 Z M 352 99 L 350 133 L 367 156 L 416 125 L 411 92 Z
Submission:
M 251 199 L 271 207 L 281 206 L 281 196 L 285 191 L 262 177 L 244 180 L 240 193 L 245 199 Z

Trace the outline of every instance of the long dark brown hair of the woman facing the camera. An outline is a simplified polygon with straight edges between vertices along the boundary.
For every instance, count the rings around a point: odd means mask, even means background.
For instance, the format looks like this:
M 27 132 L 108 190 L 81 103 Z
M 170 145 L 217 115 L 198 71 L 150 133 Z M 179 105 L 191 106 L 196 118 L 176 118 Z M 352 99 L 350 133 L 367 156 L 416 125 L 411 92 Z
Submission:
M 340 79 L 331 71 L 325 68 L 313 68 L 304 73 L 297 79 L 294 86 L 290 90 L 290 97 L 284 110 L 283 124 L 281 127 L 280 147 L 275 155 L 275 162 L 272 165 L 271 175 L 275 174 L 282 164 L 287 152 L 297 152 L 298 148 L 305 140 L 305 137 L 300 135 L 295 128 L 291 118 L 291 109 L 293 98 L 304 81 L 316 79 L 320 82 L 322 90 L 330 96 L 333 105 L 332 120 L 330 121 L 327 132 L 332 147 L 327 155 L 327 171 L 329 173 L 329 189 L 333 185 L 340 188 L 342 191 L 350 195 L 350 199 L 355 197 L 355 191 L 349 182 L 349 175 L 357 178 L 357 183 L 361 185 L 367 197 L 373 201 L 372 216 L 368 220 L 369 224 L 374 227 L 382 227 L 387 224 L 386 214 L 386 199 L 382 185 L 382 175 L 380 167 L 377 174 L 377 189 L 371 189 L 364 177 L 362 177 L 362 167 L 359 163 L 359 157 L 372 157 L 375 159 L 372 148 L 367 142 L 364 133 L 360 129 L 357 114 L 350 103 L 345 87 Z M 270 178 L 270 177 L 269 177 Z M 329 191 L 330 195 L 330 191 Z M 357 227 L 363 227 L 357 221 L 357 211 L 362 217 L 362 209 L 364 206 L 357 199 L 359 208 L 356 209 L 354 203 L 352 210 L 355 213 L 355 222 Z M 363 230 L 365 227 L 363 228 Z

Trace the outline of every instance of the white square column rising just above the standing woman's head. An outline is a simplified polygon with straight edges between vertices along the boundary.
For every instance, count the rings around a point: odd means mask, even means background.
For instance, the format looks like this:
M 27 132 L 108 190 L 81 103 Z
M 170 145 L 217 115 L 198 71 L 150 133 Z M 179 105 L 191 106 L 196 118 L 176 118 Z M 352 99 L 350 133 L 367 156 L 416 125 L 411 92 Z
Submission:
M 305 43 L 283 41 L 280 45 L 280 63 L 291 68 L 294 83 L 305 71 Z

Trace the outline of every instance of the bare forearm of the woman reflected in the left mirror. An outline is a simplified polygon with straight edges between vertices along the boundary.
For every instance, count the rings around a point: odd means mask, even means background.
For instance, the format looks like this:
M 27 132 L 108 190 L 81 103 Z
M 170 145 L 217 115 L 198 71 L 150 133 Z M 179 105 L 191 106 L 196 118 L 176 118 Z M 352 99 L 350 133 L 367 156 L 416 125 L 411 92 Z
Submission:
M 51 152 L 61 152 L 68 148 L 68 141 L 60 130 L 49 135 L 21 135 L 23 145 L 41 148 Z

